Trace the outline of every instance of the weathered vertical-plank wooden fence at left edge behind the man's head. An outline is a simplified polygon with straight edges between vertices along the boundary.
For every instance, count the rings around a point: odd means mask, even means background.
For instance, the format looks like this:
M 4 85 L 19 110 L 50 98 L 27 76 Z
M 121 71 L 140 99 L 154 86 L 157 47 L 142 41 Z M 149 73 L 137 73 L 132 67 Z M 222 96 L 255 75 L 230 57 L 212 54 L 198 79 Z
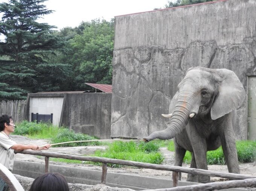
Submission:
M 26 119 L 27 100 L 1 101 L 0 114 L 12 116 L 15 123 Z

